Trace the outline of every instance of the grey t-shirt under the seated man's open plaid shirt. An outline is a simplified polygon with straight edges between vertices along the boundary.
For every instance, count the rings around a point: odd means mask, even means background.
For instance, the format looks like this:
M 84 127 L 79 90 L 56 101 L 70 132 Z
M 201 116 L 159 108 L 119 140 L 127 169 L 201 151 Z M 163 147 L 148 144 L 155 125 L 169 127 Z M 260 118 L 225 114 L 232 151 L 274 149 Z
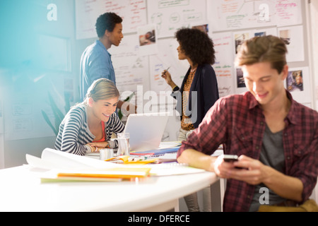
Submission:
M 266 125 L 259 161 L 261 161 L 264 165 L 269 165 L 279 172 L 284 172 L 285 156 L 283 150 L 283 131 L 272 133 L 269 126 Z M 269 194 L 268 197 L 266 197 L 267 191 Z M 255 187 L 249 211 L 257 211 L 261 204 L 273 205 L 282 203 L 285 200 L 285 198 L 281 198 L 281 196 L 275 194 L 271 189 L 266 188 L 265 184 L 258 184 Z

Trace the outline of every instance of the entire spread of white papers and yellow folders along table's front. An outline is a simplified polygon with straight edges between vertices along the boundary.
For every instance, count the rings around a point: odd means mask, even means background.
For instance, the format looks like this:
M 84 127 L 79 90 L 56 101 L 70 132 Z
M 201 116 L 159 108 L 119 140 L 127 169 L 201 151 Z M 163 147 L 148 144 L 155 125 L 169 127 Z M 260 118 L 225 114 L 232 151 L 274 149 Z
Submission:
M 90 157 L 64 153 L 60 150 L 45 148 L 41 158 L 26 155 L 32 167 L 48 169 L 42 175 L 42 182 L 59 181 L 107 181 L 119 182 L 125 179 L 146 178 L 149 176 L 167 176 L 204 172 L 177 163 L 162 164 L 117 164 Z M 153 161 L 153 160 L 151 160 Z

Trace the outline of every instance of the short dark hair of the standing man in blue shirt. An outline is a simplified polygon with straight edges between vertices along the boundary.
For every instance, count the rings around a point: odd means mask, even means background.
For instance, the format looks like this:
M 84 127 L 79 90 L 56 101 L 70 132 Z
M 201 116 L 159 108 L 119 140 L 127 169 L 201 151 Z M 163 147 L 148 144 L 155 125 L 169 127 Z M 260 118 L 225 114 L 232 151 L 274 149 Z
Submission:
M 95 24 L 98 37 L 102 37 L 106 30 L 112 32 L 117 23 L 122 23 L 122 18 L 116 13 L 104 13 L 100 15 Z

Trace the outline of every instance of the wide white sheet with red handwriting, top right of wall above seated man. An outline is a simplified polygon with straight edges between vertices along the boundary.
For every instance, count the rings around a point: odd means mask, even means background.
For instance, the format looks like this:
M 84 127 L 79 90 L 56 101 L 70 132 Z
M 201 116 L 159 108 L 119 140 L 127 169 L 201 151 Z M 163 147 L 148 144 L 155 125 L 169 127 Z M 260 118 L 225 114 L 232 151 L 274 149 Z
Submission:
M 213 32 L 302 23 L 300 0 L 209 0 Z

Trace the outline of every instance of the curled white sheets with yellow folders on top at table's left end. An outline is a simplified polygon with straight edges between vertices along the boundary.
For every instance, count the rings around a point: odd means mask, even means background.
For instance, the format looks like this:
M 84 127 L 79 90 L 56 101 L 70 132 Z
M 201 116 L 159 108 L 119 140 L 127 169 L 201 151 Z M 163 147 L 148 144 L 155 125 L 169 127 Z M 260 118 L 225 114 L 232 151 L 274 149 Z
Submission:
M 89 157 L 64 153 L 45 148 L 41 158 L 26 155 L 29 165 L 49 169 L 42 175 L 42 182 L 56 181 L 121 181 L 148 177 L 149 167 L 124 167 L 112 162 L 95 160 Z

